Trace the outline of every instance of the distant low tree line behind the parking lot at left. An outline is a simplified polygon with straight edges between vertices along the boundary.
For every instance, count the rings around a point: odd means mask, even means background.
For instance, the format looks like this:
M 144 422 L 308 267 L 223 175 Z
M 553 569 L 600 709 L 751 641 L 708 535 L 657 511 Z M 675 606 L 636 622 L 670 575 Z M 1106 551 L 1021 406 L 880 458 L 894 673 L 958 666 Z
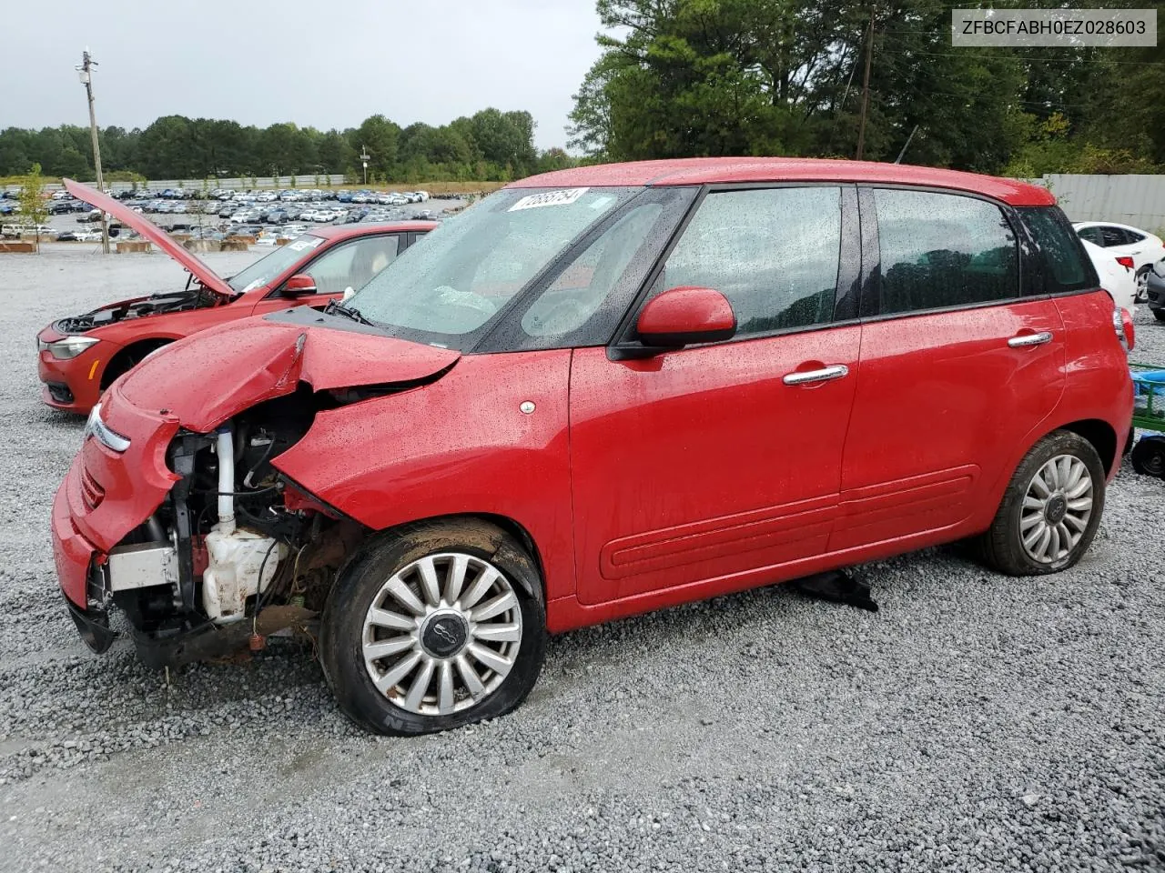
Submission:
M 408 127 L 372 115 L 359 127 L 317 130 L 291 122 L 266 128 L 221 119 L 165 115 L 144 129 L 99 132 L 108 179 L 213 179 L 345 173 L 369 182 L 509 180 L 571 164 L 562 149 L 539 152 L 528 112 L 488 108 L 447 125 Z M 0 130 L 0 176 L 41 164 L 47 176 L 96 176 L 87 127 Z

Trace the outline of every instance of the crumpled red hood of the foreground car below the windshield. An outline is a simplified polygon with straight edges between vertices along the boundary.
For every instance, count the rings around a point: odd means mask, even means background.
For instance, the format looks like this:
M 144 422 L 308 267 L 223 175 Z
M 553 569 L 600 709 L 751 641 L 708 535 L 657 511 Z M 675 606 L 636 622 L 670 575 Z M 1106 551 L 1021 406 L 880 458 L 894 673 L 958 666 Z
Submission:
M 440 374 L 460 356 L 374 333 L 255 317 L 164 346 L 114 390 L 143 411 L 209 433 L 257 403 L 294 392 L 299 382 L 316 391 L 405 385 Z

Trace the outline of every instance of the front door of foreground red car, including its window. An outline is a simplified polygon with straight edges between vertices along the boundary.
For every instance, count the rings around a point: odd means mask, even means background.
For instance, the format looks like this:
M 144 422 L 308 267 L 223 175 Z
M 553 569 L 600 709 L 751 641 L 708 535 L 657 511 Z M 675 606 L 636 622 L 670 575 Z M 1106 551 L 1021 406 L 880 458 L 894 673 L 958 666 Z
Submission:
M 848 298 L 835 305 L 856 276 L 843 200 L 856 204 L 836 185 L 707 194 L 645 299 L 716 289 L 736 336 L 640 360 L 574 352 L 581 603 L 706 596 L 825 551 L 861 345 L 856 319 L 839 320 Z

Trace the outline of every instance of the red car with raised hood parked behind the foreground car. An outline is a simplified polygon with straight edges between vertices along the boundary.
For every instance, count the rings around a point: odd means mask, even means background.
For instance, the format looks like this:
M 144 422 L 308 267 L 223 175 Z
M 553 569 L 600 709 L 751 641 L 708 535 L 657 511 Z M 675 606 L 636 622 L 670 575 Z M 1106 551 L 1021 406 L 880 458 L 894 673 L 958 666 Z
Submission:
M 150 352 L 225 321 L 339 298 L 388 265 L 431 221 L 319 227 L 224 279 L 169 234 L 125 204 L 65 179 L 65 187 L 100 206 L 190 271 L 184 291 L 162 291 L 54 321 L 37 334 L 47 404 L 89 412 L 101 392 Z

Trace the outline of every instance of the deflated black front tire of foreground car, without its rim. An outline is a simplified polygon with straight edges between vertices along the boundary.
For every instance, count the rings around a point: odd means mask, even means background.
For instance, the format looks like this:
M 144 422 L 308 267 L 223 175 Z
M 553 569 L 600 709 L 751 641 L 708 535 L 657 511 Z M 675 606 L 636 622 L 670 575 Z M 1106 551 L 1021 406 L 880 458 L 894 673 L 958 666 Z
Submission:
M 521 610 L 521 639 L 509 673 L 483 700 L 445 715 L 426 715 L 410 711 L 377 690 L 363 658 L 365 617 L 394 574 L 429 555 L 450 552 L 486 561 L 508 580 Z M 542 577 L 529 553 L 487 521 L 469 517 L 422 521 L 375 535 L 340 570 L 324 608 L 319 656 L 327 684 L 344 714 L 376 733 L 432 733 L 502 716 L 525 700 L 542 670 L 546 650 L 542 591 Z M 415 677 L 405 674 L 410 675 Z

